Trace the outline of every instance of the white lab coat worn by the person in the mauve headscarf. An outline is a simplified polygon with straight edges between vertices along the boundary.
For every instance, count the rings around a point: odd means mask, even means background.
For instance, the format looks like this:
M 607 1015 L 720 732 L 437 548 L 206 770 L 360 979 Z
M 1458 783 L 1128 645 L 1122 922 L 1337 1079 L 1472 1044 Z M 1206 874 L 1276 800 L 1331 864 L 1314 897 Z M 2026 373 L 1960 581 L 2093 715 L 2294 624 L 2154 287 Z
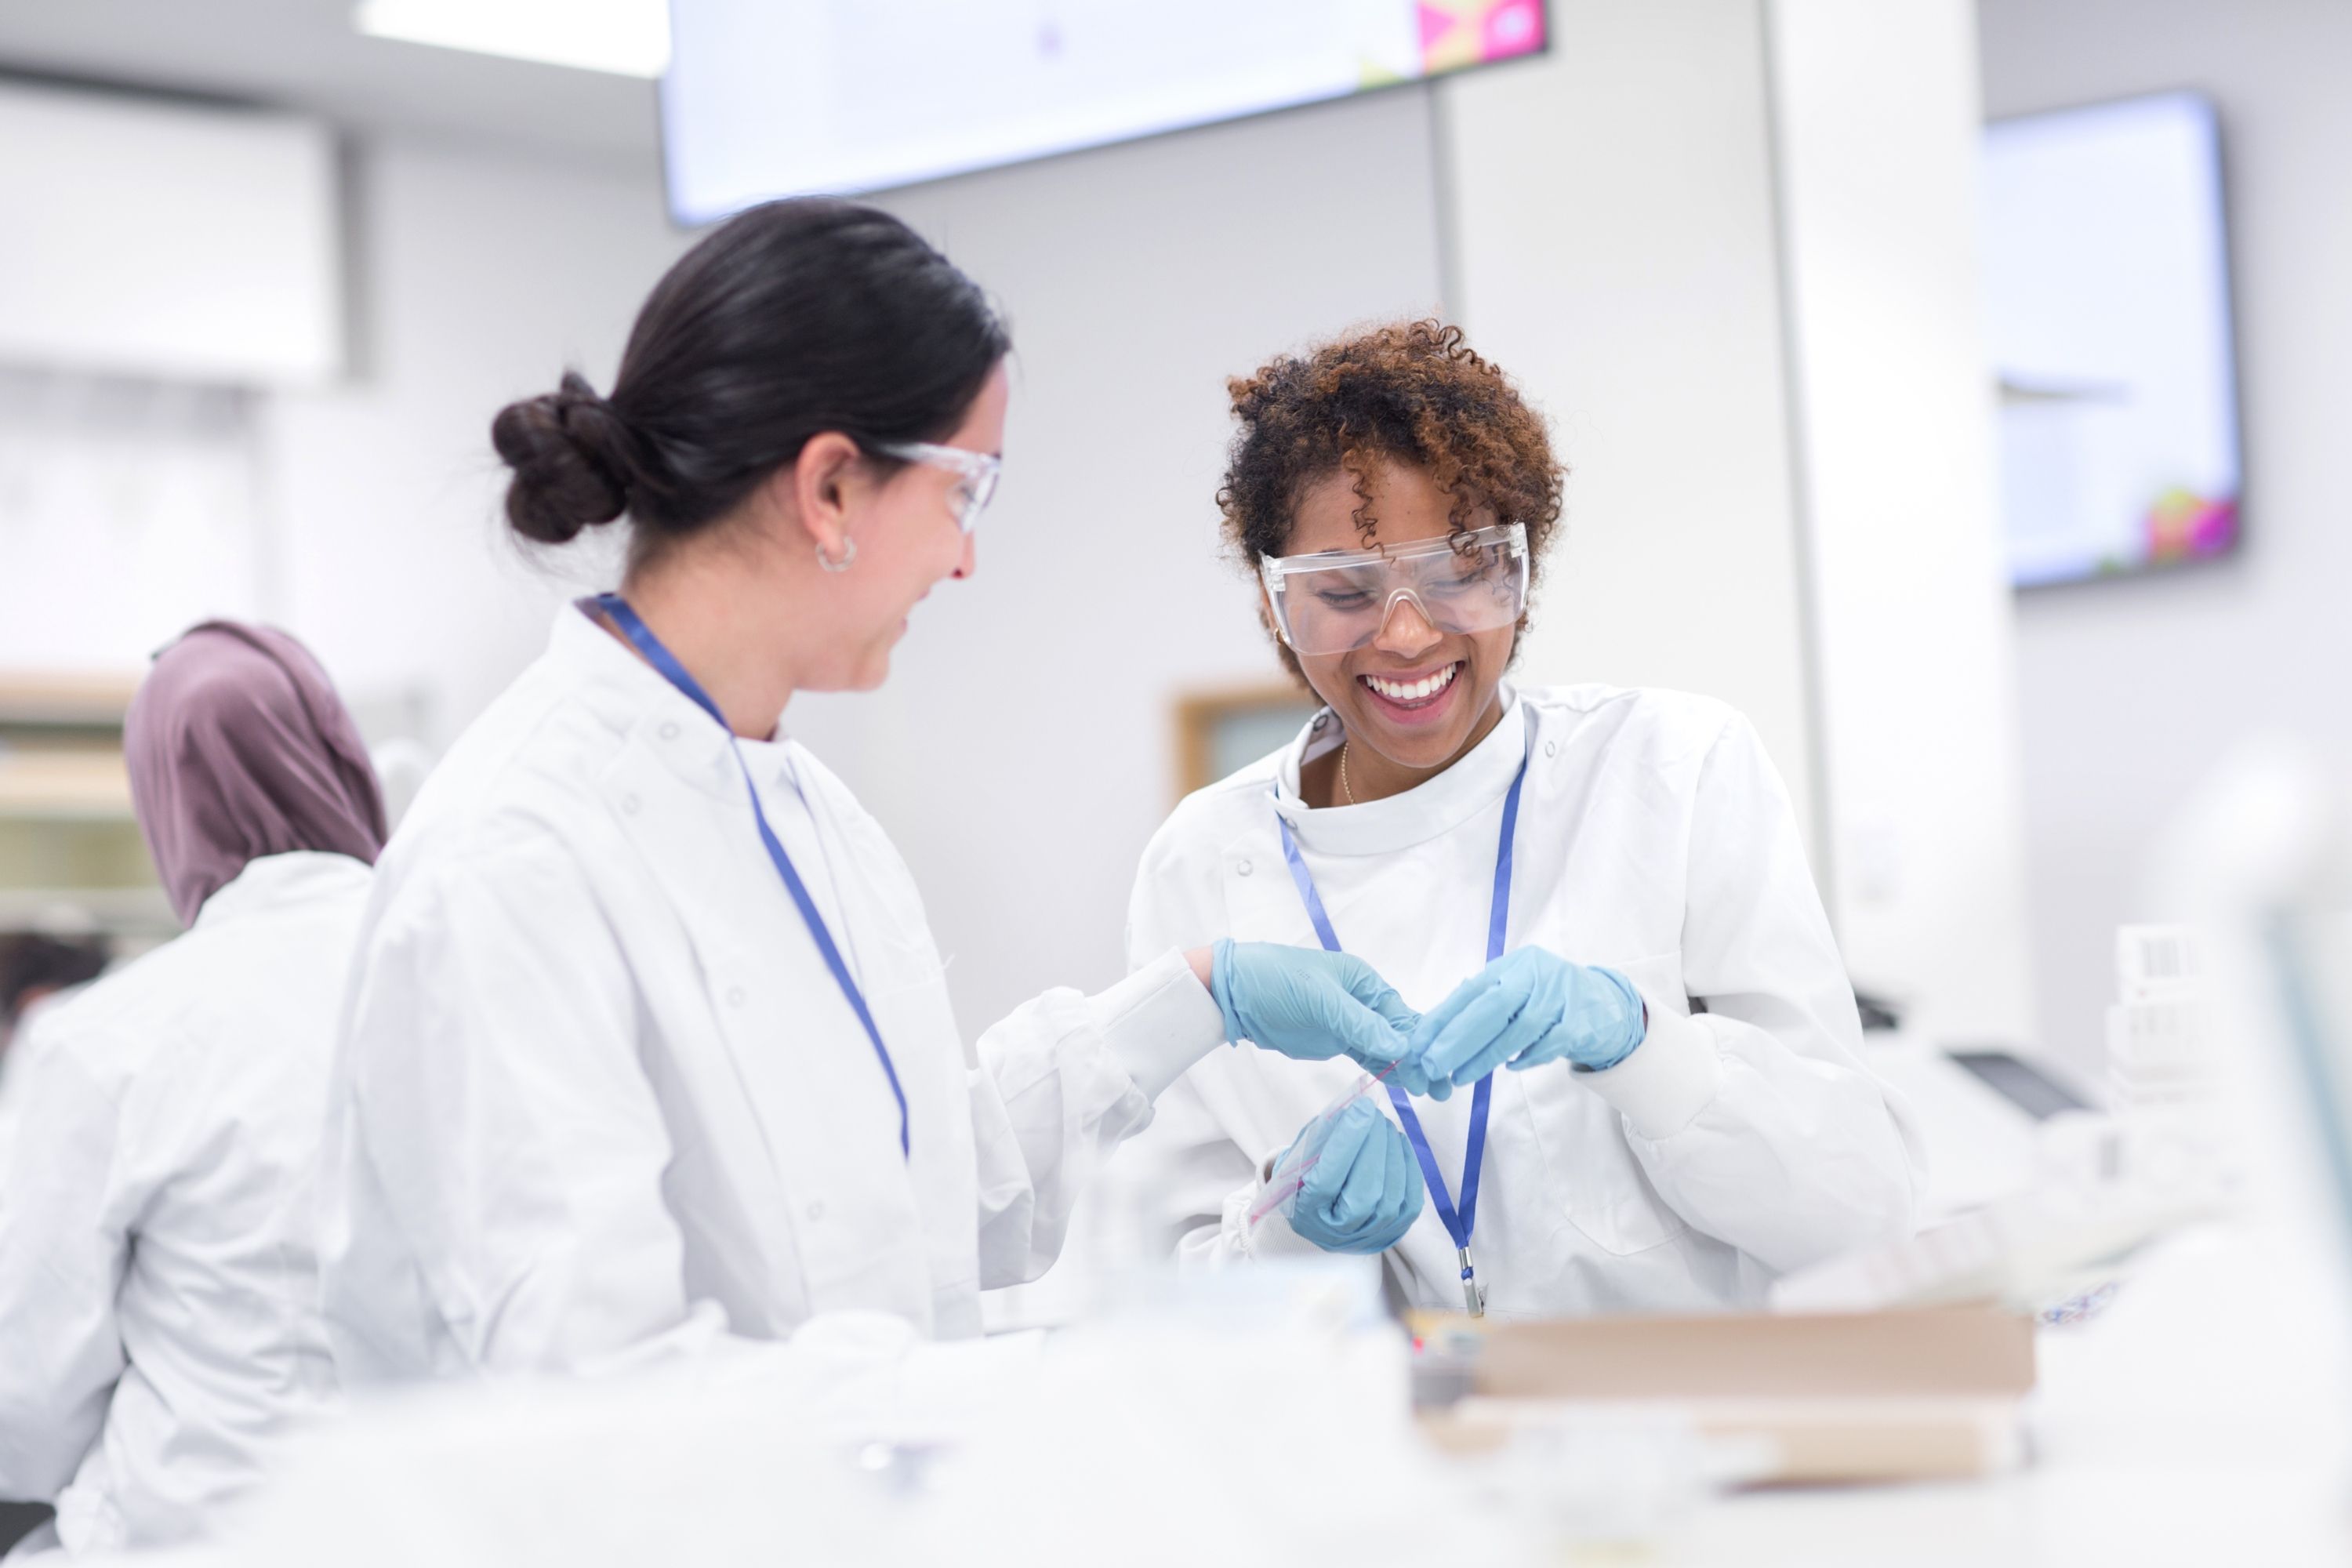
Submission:
M 254 860 L 19 1041 L 0 1495 L 54 1497 L 68 1549 L 200 1535 L 334 1399 L 318 1140 L 367 879 Z

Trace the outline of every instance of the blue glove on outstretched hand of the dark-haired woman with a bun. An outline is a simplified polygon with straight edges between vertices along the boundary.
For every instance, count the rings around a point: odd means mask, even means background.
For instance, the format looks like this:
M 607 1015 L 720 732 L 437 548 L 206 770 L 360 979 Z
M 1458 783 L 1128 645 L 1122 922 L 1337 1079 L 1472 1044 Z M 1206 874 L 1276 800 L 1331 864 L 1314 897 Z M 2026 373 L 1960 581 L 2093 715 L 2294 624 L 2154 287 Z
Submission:
M 1364 959 L 1221 938 L 1211 947 L 1209 990 L 1228 1041 L 1249 1039 L 1308 1063 L 1352 1056 L 1367 1072 L 1395 1065 L 1390 1079 L 1399 1088 L 1425 1091 L 1418 1063 L 1404 1051 L 1421 1013 Z

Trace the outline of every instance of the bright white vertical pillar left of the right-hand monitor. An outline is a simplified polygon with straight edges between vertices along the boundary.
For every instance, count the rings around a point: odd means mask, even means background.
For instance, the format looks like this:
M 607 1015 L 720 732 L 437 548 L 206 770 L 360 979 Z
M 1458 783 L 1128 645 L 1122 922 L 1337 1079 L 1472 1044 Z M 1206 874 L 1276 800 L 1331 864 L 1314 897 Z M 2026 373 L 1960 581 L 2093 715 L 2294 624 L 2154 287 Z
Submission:
M 2032 1032 L 1969 0 L 1769 0 L 1799 494 L 1846 966 Z

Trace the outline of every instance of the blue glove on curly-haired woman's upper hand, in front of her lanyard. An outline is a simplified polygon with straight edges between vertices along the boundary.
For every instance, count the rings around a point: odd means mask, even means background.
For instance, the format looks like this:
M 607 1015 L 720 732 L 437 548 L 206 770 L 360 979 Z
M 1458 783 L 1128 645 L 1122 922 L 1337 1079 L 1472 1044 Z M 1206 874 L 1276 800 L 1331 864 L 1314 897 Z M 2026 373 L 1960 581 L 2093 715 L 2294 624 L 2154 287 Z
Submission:
M 1444 1100 L 1496 1067 L 1524 1072 L 1569 1058 L 1616 1067 L 1649 1034 L 1642 992 L 1613 969 L 1569 964 L 1543 947 L 1505 952 L 1421 1016 L 1414 1058 Z

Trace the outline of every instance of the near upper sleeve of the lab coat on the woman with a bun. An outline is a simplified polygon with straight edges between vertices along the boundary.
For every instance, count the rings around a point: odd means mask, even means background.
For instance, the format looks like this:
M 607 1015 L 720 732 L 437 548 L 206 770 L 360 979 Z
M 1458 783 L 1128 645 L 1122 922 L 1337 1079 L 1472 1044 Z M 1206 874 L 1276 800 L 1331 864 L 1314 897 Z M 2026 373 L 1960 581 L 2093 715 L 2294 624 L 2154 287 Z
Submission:
M 724 1314 L 687 1298 L 630 969 L 562 844 L 506 842 L 402 889 L 348 1009 L 355 1157 L 473 1366 L 708 1349 Z

